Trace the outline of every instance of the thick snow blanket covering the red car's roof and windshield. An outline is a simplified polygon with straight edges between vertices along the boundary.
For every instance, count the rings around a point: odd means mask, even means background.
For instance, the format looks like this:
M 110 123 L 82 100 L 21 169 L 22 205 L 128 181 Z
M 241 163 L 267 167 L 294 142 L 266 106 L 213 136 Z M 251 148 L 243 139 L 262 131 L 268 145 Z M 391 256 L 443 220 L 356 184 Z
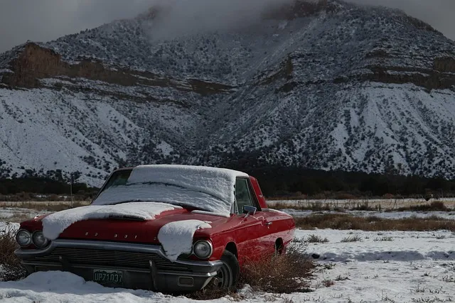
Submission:
M 194 206 L 225 216 L 234 203 L 236 177 L 244 172 L 191 165 L 139 165 L 126 185 L 109 187 L 93 204 L 114 204 L 140 199 Z

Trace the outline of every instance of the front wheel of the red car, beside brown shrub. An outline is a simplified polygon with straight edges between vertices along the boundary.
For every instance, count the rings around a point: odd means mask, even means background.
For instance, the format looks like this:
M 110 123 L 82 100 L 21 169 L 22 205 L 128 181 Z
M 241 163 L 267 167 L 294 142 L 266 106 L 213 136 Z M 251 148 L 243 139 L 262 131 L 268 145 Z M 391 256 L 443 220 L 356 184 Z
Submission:
M 213 286 L 218 289 L 235 287 L 240 272 L 237 258 L 229 250 L 225 250 L 220 260 L 223 262 L 223 265 L 212 279 Z

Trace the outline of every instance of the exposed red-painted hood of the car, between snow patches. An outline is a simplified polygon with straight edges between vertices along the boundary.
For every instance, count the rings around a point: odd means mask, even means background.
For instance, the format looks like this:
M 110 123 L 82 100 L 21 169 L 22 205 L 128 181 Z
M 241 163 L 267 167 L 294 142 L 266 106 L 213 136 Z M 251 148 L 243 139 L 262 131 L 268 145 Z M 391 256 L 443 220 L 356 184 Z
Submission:
M 41 216 L 32 221 L 44 225 L 43 220 L 47 216 Z M 172 209 L 157 214 L 153 219 L 140 219 L 134 216 L 110 216 L 107 219 L 84 219 L 76 221 L 65 228 L 58 238 L 71 238 L 96 241 L 124 241 L 131 243 L 159 244 L 158 233 L 162 226 L 173 221 L 200 220 L 210 224 L 212 228 L 204 228 L 196 231 L 195 237 L 210 238 L 213 233 L 218 233 L 228 228 L 231 218 L 212 215 L 198 214 L 188 209 Z M 22 227 L 27 227 L 24 222 Z M 37 229 L 37 228 L 28 228 Z

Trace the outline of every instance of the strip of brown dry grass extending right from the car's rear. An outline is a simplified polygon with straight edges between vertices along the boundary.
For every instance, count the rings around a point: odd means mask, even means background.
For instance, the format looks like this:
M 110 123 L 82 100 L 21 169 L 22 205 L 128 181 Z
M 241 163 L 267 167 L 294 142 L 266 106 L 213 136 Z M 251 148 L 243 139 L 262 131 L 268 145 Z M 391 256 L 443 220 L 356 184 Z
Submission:
M 295 218 L 296 227 L 301 229 L 332 228 L 362 231 L 455 231 L 455 220 L 437 216 L 428 218 L 382 219 L 376 216 L 358 217 L 349 214 L 313 214 Z

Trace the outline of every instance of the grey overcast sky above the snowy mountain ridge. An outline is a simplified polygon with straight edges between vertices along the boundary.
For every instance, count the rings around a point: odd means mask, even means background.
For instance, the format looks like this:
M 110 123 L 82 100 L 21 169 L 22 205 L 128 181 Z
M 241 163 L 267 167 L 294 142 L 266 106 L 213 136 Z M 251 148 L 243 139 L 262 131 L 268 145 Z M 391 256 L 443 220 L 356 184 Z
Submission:
M 204 11 L 207 20 L 218 20 L 211 10 L 222 8 L 223 18 L 238 18 L 240 11 L 257 5 L 289 0 L 1 0 L 0 52 L 26 40 L 47 41 L 62 35 L 94 28 L 119 18 L 132 18 L 156 1 L 174 1 L 183 13 Z M 430 23 L 455 40 L 455 0 L 350 0 L 363 4 L 391 6 Z

